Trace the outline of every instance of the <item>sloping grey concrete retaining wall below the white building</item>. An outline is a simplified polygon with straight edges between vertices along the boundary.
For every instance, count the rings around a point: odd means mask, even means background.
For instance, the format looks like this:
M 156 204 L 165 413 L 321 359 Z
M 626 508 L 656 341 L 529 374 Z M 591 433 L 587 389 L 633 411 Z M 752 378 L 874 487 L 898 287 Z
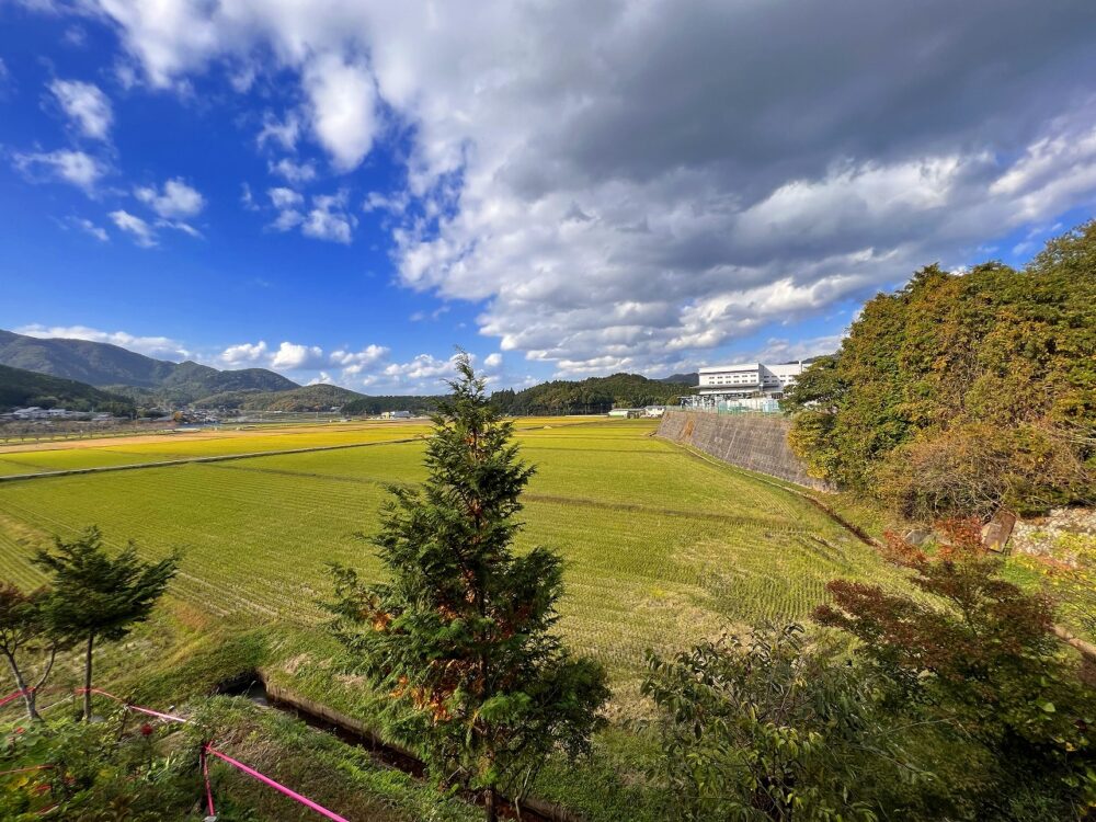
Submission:
M 666 411 L 658 435 L 689 445 L 739 468 L 760 471 L 804 488 L 827 490 L 788 445 L 791 421 L 777 414 L 712 414 Z

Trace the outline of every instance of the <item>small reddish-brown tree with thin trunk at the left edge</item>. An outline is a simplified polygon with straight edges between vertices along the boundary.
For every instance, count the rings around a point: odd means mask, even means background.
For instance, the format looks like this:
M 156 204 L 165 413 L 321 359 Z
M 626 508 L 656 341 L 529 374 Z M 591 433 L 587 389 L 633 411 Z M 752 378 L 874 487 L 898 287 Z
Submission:
M 43 605 L 49 593 L 39 589 L 25 593 L 14 585 L 0 583 L 0 653 L 8 660 L 15 687 L 23 692 L 23 704 L 28 719 L 39 719 L 36 707 L 37 690 L 45 684 L 54 667 L 58 650 L 57 639 L 50 635 Z M 37 681 L 31 685 L 24 658 L 45 658 Z

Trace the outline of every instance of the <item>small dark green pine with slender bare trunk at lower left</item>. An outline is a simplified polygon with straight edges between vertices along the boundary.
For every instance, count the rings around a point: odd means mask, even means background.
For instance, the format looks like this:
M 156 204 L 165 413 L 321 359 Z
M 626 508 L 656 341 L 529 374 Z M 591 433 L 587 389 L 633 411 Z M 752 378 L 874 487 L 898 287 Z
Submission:
M 103 537 L 92 526 L 76 539 L 54 539 L 54 551 L 39 549 L 35 564 L 53 574 L 53 594 L 43 613 L 59 636 L 83 642 L 83 718 L 91 718 L 92 651 L 95 640 L 117 641 L 136 623 L 148 618 L 157 600 L 179 569 L 172 555 L 159 562 L 141 562 L 133 543 L 111 557 Z

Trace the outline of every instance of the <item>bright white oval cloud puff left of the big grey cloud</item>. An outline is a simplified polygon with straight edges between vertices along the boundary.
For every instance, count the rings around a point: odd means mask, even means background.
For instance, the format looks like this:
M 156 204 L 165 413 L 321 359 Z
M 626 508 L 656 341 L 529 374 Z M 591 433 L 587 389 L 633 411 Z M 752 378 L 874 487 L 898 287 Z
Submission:
M 376 87 L 368 68 L 322 54 L 304 71 L 312 109 L 312 130 L 335 169 L 351 171 L 373 147 L 377 132 Z

